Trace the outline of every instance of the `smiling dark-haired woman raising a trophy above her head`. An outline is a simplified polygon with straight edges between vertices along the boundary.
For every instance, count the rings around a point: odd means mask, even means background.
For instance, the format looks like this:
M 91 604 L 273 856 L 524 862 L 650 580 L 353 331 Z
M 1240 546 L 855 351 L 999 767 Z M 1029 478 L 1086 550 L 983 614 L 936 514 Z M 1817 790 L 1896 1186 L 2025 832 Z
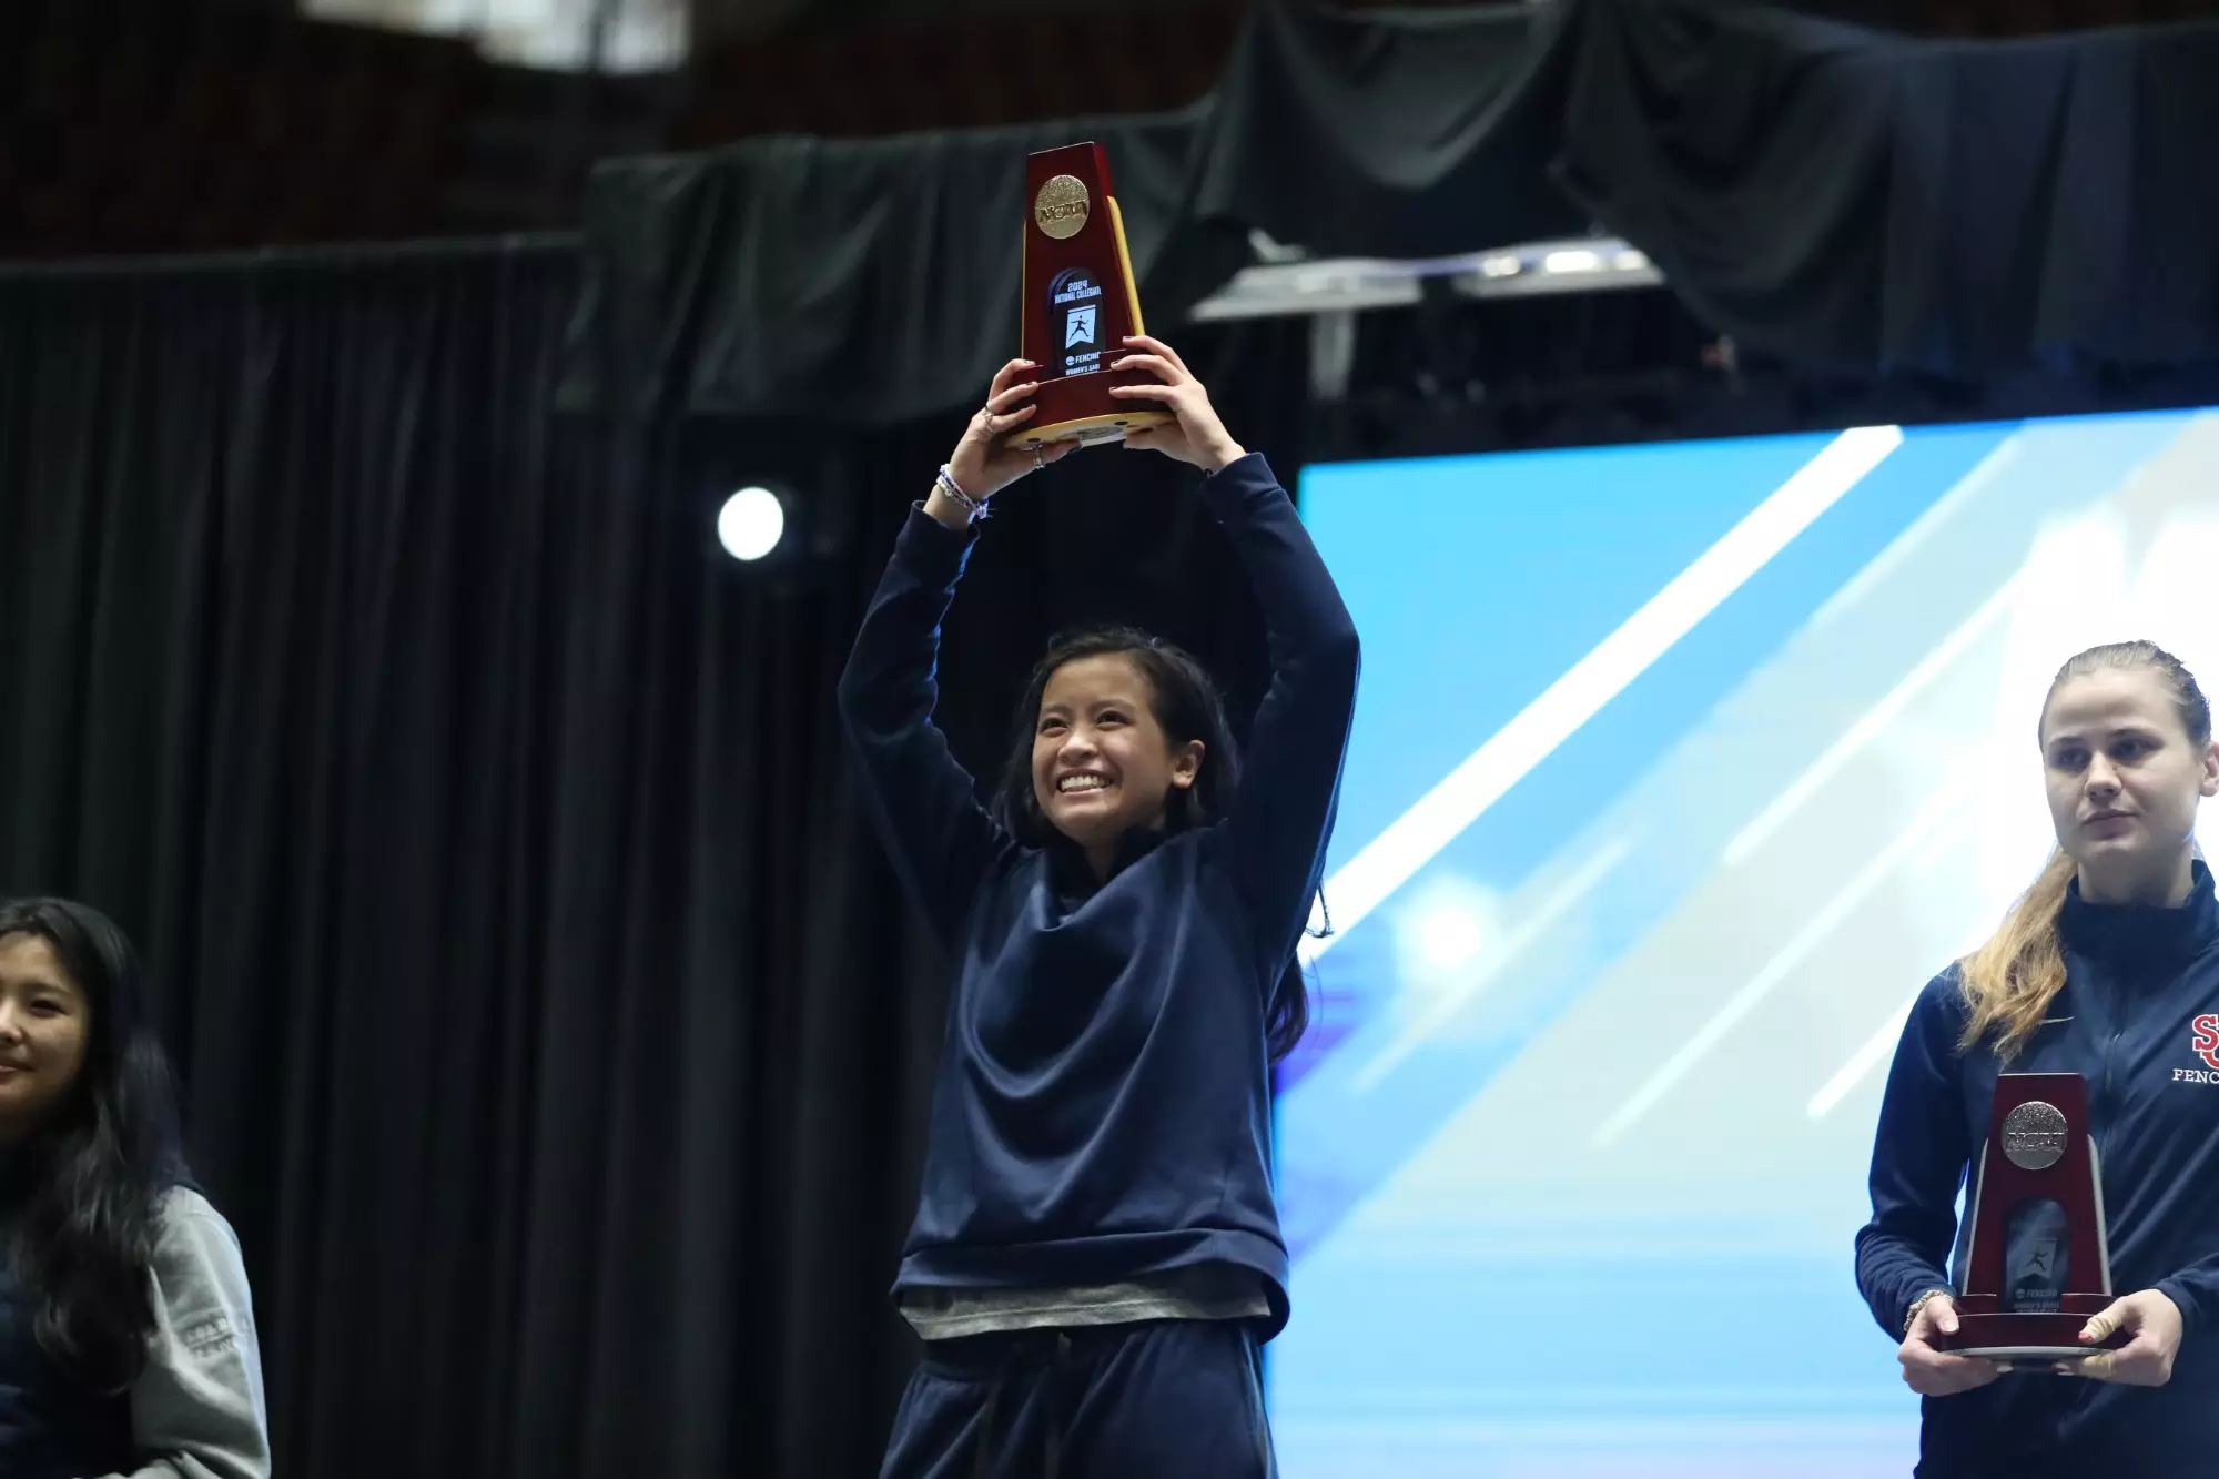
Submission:
M 1331 828 L 1356 631 L 1294 504 L 1169 346 L 1127 446 L 1203 497 L 1265 611 L 1271 688 L 1234 755 L 1209 675 L 1134 631 L 1058 644 L 992 808 L 932 726 L 941 615 L 1007 446 L 1010 362 L 910 513 L 841 680 L 888 846 L 956 966 L 894 1286 L 925 1361 L 888 1479 L 1271 1475 L 1260 1344 L 1287 1319 L 1269 1073 L 1305 1024 L 1296 944 Z

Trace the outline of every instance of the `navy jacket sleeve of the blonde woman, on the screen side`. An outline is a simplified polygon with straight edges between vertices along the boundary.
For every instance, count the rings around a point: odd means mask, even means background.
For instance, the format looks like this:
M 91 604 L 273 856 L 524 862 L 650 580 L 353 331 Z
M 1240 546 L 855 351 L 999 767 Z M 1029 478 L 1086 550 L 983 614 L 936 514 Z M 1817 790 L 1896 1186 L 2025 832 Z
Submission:
M 1964 1002 L 1951 966 L 1919 993 L 1895 1044 L 1873 1137 L 1873 1219 L 1857 1232 L 1857 1288 L 1891 1339 L 1904 1337 L 1911 1301 L 1951 1288 L 1957 1190 L 1973 1159 L 1964 1119 L 1957 1035 Z

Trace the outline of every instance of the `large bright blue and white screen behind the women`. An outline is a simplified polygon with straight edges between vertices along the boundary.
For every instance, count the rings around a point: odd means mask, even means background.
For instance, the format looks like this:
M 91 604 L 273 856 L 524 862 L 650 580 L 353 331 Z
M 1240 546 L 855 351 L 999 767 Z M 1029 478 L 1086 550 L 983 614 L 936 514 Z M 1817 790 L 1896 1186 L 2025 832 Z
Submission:
M 1906 1472 L 1851 1259 L 1886 1062 L 2046 855 L 2059 662 L 2219 680 L 2219 413 L 1300 491 L 1365 682 L 1280 1104 L 1285 1472 Z

